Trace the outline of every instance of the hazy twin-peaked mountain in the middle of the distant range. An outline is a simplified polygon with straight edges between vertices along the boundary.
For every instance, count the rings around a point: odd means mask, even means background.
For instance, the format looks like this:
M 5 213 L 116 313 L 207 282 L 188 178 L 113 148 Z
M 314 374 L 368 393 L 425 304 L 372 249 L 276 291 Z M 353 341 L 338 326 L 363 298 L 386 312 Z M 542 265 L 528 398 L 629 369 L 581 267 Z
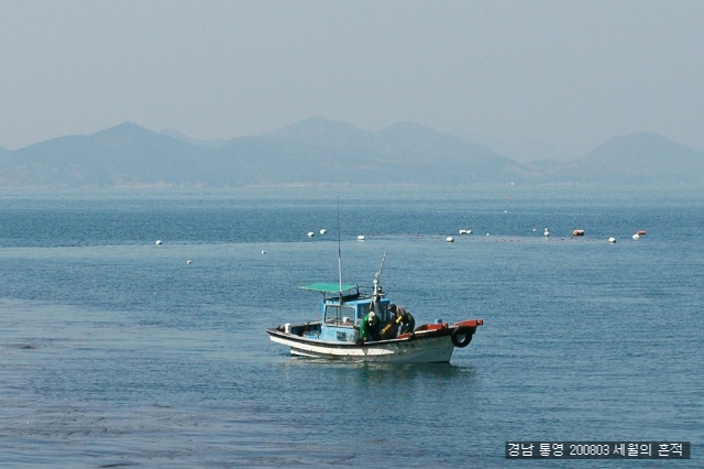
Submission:
M 508 183 L 530 173 L 486 148 L 411 122 L 367 132 L 315 118 L 264 137 L 318 149 L 340 164 L 351 183 Z

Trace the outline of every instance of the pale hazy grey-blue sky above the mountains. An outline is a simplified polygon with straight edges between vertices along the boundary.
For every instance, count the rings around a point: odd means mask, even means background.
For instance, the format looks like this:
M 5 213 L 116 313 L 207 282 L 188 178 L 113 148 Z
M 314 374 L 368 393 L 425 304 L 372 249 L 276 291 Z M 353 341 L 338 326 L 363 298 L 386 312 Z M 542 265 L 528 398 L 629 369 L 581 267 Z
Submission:
M 704 149 L 704 1 L 0 0 L 0 144 L 310 117 Z

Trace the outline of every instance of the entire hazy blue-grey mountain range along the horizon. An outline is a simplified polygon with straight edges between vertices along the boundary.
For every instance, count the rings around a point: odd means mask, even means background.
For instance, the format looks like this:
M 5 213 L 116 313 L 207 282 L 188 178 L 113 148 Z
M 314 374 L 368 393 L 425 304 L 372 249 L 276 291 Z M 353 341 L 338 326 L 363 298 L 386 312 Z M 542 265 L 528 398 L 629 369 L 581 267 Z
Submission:
M 314 118 L 218 141 L 125 122 L 14 151 L 0 146 L 0 186 L 704 183 L 704 153 L 654 133 L 609 139 L 571 162 L 508 156 L 411 122 L 369 132 Z

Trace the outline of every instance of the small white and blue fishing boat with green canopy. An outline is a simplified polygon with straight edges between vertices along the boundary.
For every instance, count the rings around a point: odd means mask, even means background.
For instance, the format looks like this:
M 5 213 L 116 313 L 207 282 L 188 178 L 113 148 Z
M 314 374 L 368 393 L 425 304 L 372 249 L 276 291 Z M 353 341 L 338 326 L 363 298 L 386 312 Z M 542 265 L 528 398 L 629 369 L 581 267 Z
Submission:
M 388 363 L 449 362 L 454 349 L 469 346 L 484 321 L 469 319 L 450 324 L 436 319 L 413 331 L 395 334 L 399 321 L 394 320 L 392 302 L 380 284 L 384 260 L 371 287 L 341 282 L 301 286 L 322 294 L 320 319 L 266 329 L 271 340 L 288 347 L 292 356 L 298 357 Z M 361 340 L 360 326 L 371 312 L 380 323 L 382 337 Z

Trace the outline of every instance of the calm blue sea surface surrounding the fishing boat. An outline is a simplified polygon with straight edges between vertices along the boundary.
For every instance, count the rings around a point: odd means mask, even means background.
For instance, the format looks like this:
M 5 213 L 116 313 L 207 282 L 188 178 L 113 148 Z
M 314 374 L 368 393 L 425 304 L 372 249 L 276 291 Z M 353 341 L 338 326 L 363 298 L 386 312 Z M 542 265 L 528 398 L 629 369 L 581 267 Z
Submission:
M 344 282 L 388 251 L 419 323 L 484 319 L 450 364 L 270 341 L 338 281 L 338 200 Z M 0 467 L 616 468 L 504 445 L 688 440 L 626 465 L 698 468 L 703 232 L 702 187 L 1 189 Z

